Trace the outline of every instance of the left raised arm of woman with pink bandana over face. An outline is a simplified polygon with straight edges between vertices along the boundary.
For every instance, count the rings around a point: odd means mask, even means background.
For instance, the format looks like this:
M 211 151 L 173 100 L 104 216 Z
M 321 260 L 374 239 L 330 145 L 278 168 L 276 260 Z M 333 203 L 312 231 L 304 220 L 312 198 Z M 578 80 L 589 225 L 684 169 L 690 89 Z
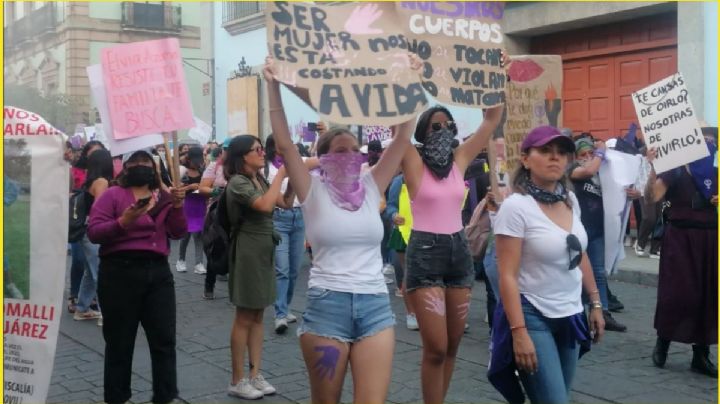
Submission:
M 275 146 L 285 161 L 285 169 L 290 179 L 290 185 L 295 190 L 300 202 L 304 202 L 310 191 L 310 172 L 290 138 L 290 129 L 285 116 L 282 97 L 280 96 L 280 83 L 275 79 L 273 59 L 269 56 L 265 59 L 263 75 L 267 82 L 270 125 L 275 138 Z

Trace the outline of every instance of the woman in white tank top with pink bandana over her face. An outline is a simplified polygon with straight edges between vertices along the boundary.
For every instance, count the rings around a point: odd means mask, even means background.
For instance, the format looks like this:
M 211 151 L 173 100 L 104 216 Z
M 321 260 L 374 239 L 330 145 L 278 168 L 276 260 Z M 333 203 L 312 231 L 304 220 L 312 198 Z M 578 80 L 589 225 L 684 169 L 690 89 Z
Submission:
M 307 307 L 298 330 L 311 402 L 339 402 L 351 364 L 354 402 L 384 403 L 395 318 L 382 273 L 378 206 L 410 146 L 413 121 L 393 128 L 392 143 L 365 174 L 360 172 L 364 158 L 355 136 L 344 129 L 324 133 L 317 144 L 320 174 L 311 175 L 290 139 L 271 58 L 263 73 L 276 147 L 284 157 L 306 219 L 306 237 L 313 246 Z

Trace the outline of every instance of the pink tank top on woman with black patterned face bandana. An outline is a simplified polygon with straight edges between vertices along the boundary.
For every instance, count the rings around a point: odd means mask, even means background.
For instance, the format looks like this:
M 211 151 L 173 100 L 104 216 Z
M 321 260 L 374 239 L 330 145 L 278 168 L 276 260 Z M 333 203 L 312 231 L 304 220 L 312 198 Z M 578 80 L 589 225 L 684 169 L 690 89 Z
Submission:
M 462 230 L 462 204 L 465 181 L 457 164 L 450 175 L 438 180 L 423 164 L 423 177 L 415 199 L 410 202 L 413 230 L 436 234 L 453 234 Z

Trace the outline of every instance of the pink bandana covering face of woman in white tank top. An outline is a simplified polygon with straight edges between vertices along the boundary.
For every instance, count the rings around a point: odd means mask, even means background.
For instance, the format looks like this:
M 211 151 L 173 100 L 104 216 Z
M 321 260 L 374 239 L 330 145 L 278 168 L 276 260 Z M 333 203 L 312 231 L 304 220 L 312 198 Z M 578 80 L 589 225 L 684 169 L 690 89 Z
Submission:
M 365 187 L 360 182 L 360 167 L 364 162 L 365 158 L 359 152 L 320 156 L 320 176 L 336 206 L 349 211 L 362 206 Z

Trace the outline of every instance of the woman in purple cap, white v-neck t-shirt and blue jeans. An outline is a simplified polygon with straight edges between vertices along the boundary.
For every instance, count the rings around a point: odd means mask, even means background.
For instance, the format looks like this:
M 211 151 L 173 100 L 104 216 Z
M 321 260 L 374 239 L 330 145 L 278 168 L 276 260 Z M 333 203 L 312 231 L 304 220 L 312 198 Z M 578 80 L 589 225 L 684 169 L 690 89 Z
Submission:
M 503 202 L 494 227 L 503 310 L 498 309 L 493 324 L 493 362 L 496 352 L 511 345 L 530 401 L 567 403 L 580 345 L 593 334 L 599 341 L 605 326 L 584 252 L 588 238 L 580 204 L 567 188 L 575 144 L 556 128 L 541 126 L 521 149 L 514 194 Z M 589 332 L 583 287 L 591 299 Z

